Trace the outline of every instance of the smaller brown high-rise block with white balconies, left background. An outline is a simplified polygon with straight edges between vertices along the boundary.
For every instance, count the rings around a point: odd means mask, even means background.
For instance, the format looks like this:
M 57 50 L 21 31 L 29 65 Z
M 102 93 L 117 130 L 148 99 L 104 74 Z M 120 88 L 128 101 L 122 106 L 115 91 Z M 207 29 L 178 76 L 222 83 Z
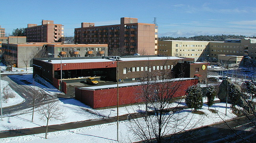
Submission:
M 63 42 L 64 26 L 51 20 L 42 20 L 42 25 L 28 24 L 27 42 Z

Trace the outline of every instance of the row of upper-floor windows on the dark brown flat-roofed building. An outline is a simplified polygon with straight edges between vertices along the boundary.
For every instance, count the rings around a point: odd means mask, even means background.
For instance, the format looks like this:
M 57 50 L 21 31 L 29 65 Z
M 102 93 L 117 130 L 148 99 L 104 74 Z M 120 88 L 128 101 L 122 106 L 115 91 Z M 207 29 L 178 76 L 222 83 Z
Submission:
M 149 66 L 149 67 L 124 67 L 123 74 L 127 74 L 127 72 L 139 72 L 139 71 L 149 71 L 152 70 L 163 70 L 163 69 L 173 69 L 173 65 L 157 65 L 157 66 Z

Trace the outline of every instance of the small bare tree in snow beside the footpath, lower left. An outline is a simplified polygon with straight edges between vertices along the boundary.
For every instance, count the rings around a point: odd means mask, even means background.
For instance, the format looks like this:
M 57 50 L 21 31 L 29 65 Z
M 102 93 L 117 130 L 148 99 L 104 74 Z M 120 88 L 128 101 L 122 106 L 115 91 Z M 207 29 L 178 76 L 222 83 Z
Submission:
M 48 123 L 51 119 L 56 120 L 63 120 L 64 116 L 63 113 L 65 111 L 61 106 L 59 106 L 58 102 L 51 102 L 47 101 L 47 103 L 40 107 L 38 110 L 39 115 L 41 115 L 40 119 L 46 121 L 46 131 L 45 131 L 45 138 L 47 139 L 47 132 L 48 132 Z

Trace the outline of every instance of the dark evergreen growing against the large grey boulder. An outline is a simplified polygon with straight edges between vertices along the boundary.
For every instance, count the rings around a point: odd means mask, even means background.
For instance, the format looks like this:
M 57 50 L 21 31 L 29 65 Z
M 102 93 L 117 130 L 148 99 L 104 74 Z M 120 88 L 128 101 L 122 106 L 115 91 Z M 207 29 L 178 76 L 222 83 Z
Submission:
M 228 96 L 230 97 L 230 103 L 233 107 L 234 105 L 237 105 L 237 102 L 242 95 L 242 92 L 232 83 L 228 84 Z

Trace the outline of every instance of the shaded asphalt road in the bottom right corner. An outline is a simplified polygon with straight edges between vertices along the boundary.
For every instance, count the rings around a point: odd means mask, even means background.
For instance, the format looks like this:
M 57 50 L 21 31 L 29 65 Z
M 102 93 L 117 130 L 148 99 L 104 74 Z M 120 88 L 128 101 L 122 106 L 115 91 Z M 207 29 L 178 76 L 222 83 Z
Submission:
M 255 119 L 254 119 L 255 120 Z M 232 129 L 232 130 L 231 130 Z M 237 118 L 215 125 L 183 132 L 172 138 L 165 138 L 164 142 L 204 142 L 204 143 L 254 143 L 256 128 L 246 117 Z

